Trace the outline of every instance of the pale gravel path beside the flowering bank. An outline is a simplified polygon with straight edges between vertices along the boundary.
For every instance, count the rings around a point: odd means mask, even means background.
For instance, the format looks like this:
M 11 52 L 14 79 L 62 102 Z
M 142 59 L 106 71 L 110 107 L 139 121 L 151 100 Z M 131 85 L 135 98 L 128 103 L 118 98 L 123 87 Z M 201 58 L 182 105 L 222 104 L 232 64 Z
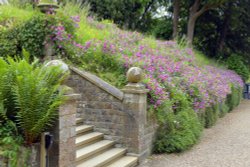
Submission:
M 139 167 L 250 167 L 250 100 L 205 129 L 192 149 L 153 155 Z

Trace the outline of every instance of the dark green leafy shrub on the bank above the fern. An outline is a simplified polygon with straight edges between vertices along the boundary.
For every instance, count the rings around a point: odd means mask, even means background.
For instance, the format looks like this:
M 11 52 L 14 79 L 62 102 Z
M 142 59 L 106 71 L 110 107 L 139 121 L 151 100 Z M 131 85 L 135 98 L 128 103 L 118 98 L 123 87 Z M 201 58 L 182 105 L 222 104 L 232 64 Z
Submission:
M 20 11 L 20 14 L 22 14 L 22 10 L 19 8 L 12 7 L 11 9 Z M 63 25 L 65 31 L 71 34 L 73 38 L 75 37 L 73 21 L 62 12 L 58 12 L 57 15 L 30 12 L 34 15 L 26 14 L 27 18 L 21 18 L 15 12 L 14 14 L 11 15 L 13 18 L 4 15 L 2 28 L 0 21 L 0 55 L 2 57 L 21 56 L 22 49 L 25 49 L 32 56 L 43 58 L 45 45 L 55 36 L 53 27 L 59 25 Z M 57 48 L 57 43 L 55 48 Z M 56 52 L 61 54 L 62 50 L 57 49 Z

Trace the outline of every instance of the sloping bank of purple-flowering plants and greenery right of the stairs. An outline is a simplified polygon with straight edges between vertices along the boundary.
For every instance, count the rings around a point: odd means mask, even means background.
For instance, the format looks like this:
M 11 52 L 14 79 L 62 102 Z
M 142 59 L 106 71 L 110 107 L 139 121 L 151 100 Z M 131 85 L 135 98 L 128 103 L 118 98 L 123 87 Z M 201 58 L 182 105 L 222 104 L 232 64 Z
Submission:
M 54 41 L 57 56 L 68 63 L 91 71 L 118 87 L 126 84 L 125 73 L 130 67 L 144 70 L 143 82 L 150 90 L 149 111 L 154 113 L 160 125 L 155 152 L 188 149 L 199 139 L 202 126 L 212 126 L 241 99 L 241 77 L 225 67 L 200 61 L 191 48 L 124 31 L 110 21 L 96 22 L 72 3 L 66 3 L 54 16 L 40 15 L 45 20 L 57 20 L 50 24 L 46 35 Z M 56 19 L 59 16 L 67 18 L 66 21 Z M 20 26 L 32 19 L 36 17 Z M 44 44 L 38 42 L 38 45 Z

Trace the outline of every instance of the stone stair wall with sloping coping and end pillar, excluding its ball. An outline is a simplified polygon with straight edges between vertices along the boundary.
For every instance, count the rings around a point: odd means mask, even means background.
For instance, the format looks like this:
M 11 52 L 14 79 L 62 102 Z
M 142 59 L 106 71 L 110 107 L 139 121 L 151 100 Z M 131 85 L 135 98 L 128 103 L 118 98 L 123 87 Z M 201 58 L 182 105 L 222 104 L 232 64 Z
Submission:
M 156 123 L 147 118 L 147 92 L 143 85 L 119 90 L 100 78 L 71 68 L 67 85 L 81 94 L 77 117 L 95 131 L 115 141 L 118 147 L 144 159 L 151 153 Z

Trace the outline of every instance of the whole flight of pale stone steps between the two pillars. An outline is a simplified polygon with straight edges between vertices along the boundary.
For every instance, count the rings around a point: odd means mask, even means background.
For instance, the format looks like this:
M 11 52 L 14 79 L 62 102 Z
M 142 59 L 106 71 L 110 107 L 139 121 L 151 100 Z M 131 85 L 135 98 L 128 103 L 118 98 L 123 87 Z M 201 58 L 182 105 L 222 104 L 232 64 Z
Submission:
M 124 148 L 115 148 L 115 142 L 104 139 L 104 134 L 93 131 L 76 119 L 76 167 L 135 167 L 138 158 L 127 156 Z

